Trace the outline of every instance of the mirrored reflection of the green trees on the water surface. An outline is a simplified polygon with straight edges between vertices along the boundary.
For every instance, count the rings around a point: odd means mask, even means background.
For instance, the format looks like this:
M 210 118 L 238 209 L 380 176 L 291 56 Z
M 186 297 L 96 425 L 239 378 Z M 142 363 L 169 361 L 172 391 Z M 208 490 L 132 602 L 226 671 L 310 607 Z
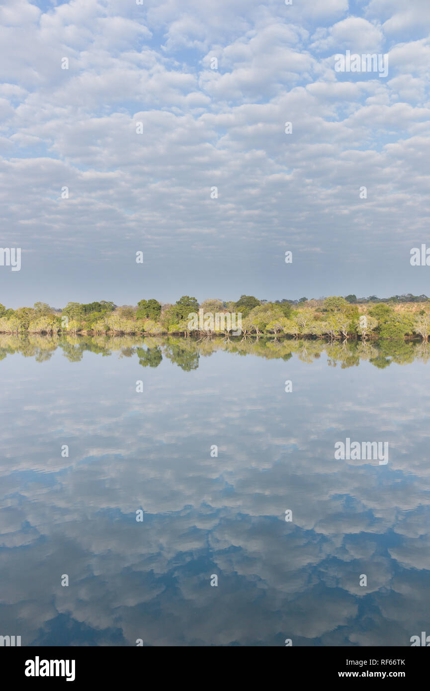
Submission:
M 252 355 L 265 359 L 290 360 L 293 356 L 307 363 L 318 361 L 326 354 L 329 367 L 356 367 L 367 361 L 380 369 L 391 363 L 407 364 L 413 361 L 430 362 L 430 344 L 422 341 L 321 341 L 317 339 L 274 339 L 272 337 L 245 336 L 240 339 L 222 337 L 185 339 L 178 336 L 128 335 L 66 335 L 0 334 L 0 360 L 13 353 L 34 357 L 43 363 L 55 350 L 62 350 L 71 362 L 82 360 L 85 352 L 109 357 L 137 357 L 140 366 L 156 368 L 168 359 L 185 372 L 196 370 L 200 357 L 210 357 L 219 350 L 227 350 L 240 357 Z

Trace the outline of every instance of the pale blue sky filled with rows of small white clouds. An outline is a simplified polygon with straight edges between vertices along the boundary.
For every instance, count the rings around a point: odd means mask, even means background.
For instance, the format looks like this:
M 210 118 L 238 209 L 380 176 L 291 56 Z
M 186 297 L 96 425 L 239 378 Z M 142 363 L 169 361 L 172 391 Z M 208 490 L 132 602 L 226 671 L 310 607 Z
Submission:
M 2 0 L 0 302 L 430 295 L 429 64 L 428 0 Z

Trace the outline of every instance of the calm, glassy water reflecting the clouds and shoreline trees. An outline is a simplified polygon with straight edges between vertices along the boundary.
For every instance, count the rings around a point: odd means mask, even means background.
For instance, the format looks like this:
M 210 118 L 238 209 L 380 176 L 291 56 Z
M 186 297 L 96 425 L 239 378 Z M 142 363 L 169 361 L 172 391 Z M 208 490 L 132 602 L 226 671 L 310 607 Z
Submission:
M 0 634 L 277 646 L 430 634 L 422 345 L 3 336 L 0 357 Z M 346 437 L 388 442 L 388 464 L 335 460 Z

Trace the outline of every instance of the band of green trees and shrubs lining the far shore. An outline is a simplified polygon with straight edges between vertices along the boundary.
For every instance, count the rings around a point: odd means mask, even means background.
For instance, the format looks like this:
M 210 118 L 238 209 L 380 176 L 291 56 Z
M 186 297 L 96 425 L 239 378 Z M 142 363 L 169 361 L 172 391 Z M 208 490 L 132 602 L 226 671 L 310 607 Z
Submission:
M 200 320 L 191 319 L 199 313 Z M 216 315 L 218 314 L 218 319 Z M 235 315 L 232 328 L 227 315 Z M 221 315 L 221 318 L 219 318 Z M 224 317 L 222 317 L 224 315 Z M 194 324 L 198 323 L 198 328 Z M 266 334 L 274 337 L 347 340 L 408 339 L 430 334 L 430 299 L 410 294 L 390 299 L 357 299 L 355 295 L 325 299 L 269 302 L 242 295 L 234 302 L 185 295 L 174 304 L 155 299 L 118 307 L 112 302 L 68 303 L 62 310 L 46 303 L 6 309 L 0 304 L 0 333 L 35 334 Z

